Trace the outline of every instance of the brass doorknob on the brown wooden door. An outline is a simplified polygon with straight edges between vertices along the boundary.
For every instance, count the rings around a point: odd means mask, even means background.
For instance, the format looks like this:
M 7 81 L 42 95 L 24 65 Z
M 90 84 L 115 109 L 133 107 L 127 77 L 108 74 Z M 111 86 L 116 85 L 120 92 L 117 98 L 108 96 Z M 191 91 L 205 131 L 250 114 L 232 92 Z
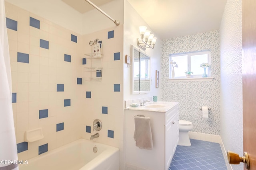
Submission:
M 240 162 L 244 162 L 246 169 L 250 169 L 249 156 L 247 152 L 244 152 L 244 156 L 240 157 L 239 154 L 228 151 L 228 163 L 240 164 Z

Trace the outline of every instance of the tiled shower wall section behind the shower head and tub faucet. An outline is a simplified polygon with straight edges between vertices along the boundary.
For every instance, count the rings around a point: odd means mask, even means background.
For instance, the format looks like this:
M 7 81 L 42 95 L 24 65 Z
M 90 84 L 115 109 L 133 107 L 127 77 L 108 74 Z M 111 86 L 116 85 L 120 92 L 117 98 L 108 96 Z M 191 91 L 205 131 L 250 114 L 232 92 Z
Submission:
M 100 59 L 86 59 L 83 64 L 82 82 L 82 137 L 90 139 L 96 133 L 100 137 L 94 139 L 99 143 L 118 147 L 120 163 L 123 162 L 123 25 L 111 27 L 83 36 L 83 53 L 91 53 L 90 40 L 98 38 L 102 42 L 102 80 L 86 81 L 88 73 L 85 67 L 101 66 Z M 86 77 L 87 76 L 87 77 Z M 95 77 L 96 73 L 93 72 Z M 85 93 L 86 92 L 86 93 Z M 93 131 L 94 119 L 102 121 L 102 129 Z M 122 169 L 122 168 L 120 168 Z

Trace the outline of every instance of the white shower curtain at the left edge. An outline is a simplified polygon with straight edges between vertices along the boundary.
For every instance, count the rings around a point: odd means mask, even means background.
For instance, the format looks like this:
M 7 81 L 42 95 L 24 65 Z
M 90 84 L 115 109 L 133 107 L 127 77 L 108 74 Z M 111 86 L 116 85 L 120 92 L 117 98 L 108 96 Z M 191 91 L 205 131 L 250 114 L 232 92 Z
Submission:
M 17 160 L 5 8 L 4 0 L 0 0 L 0 170 L 18 170 L 18 164 L 8 162 Z

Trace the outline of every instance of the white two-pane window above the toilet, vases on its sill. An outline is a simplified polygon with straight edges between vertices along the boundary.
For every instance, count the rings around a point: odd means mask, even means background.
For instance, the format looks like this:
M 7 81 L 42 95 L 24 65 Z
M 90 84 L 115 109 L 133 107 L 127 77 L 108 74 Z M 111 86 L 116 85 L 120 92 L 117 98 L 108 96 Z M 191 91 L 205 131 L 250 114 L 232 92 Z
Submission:
M 175 61 L 178 67 L 174 67 L 174 78 L 185 78 L 185 71 L 191 71 L 192 78 L 202 77 L 204 69 L 200 67 L 202 63 L 210 64 L 210 51 L 201 51 L 195 53 L 182 53 L 170 55 L 170 62 Z M 210 77 L 210 67 L 206 69 L 206 74 Z M 172 64 L 170 64 L 170 78 L 172 78 Z

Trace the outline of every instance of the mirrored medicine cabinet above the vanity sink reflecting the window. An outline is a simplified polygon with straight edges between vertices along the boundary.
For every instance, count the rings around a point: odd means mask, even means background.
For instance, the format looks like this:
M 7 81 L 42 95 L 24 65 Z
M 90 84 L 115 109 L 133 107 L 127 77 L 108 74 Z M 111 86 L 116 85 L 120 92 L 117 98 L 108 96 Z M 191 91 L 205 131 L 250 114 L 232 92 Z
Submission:
M 150 57 L 132 46 L 132 93 L 150 92 Z

